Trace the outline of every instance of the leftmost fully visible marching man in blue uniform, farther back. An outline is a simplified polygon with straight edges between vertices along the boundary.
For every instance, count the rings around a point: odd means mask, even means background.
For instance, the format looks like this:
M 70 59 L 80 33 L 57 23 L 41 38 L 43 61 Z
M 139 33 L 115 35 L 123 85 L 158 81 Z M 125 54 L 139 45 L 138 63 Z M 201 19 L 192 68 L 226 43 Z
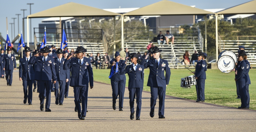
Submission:
M 5 77 L 8 86 L 12 86 L 13 82 L 13 69 L 16 70 L 16 58 L 14 54 L 11 54 L 12 49 L 7 47 L 7 54 L 4 56 L 4 70 L 5 70 Z

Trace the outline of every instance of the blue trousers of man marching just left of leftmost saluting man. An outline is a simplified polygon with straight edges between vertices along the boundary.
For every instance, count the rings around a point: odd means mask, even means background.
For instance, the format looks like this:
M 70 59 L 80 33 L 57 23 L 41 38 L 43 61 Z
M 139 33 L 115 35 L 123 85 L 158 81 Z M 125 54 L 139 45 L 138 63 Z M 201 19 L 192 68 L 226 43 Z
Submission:
M 22 80 L 23 82 L 23 92 L 24 92 L 24 99 L 28 98 L 28 103 L 32 103 L 32 86 L 34 80 Z

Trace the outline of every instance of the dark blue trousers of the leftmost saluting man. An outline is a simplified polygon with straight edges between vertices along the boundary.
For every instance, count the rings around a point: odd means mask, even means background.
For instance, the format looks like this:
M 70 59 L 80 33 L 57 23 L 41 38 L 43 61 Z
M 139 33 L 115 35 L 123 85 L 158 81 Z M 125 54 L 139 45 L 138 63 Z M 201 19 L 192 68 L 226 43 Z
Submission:
M 51 81 L 38 81 L 39 82 L 39 100 L 40 105 L 44 104 L 44 94 L 46 93 L 45 108 L 49 109 L 51 104 Z M 45 92 L 46 91 L 46 92 Z

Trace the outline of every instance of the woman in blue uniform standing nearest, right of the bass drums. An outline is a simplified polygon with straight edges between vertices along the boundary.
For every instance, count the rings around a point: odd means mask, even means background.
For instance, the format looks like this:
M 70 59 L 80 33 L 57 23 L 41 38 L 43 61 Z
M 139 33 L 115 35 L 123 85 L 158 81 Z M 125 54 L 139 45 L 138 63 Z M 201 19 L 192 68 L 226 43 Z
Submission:
M 239 65 L 237 66 L 237 76 L 235 80 L 238 82 L 238 90 L 241 97 L 241 106 L 238 107 L 239 109 L 248 109 L 247 107 L 247 99 L 246 99 L 246 83 L 248 81 L 246 71 L 246 60 L 247 54 L 245 52 L 239 52 L 238 54 L 238 61 L 240 61 Z

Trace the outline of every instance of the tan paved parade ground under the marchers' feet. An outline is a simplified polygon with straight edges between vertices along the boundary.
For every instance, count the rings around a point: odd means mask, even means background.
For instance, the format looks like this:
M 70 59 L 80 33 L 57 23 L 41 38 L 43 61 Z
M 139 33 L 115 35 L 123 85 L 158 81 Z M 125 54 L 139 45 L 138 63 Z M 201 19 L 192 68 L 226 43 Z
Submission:
M 124 94 L 124 111 L 113 110 L 110 84 L 94 82 L 93 89 L 89 89 L 85 120 L 74 112 L 73 87 L 69 88 L 63 105 L 56 105 L 54 92 L 51 93 L 51 112 L 40 111 L 36 92 L 33 105 L 23 103 L 18 70 L 14 70 L 12 86 L 7 86 L 5 79 L 0 80 L 0 91 L 0 131 L 256 131 L 255 110 L 196 103 L 173 96 L 165 98 L 165 119 L 158 119 L 158 102 L 155 117 L 151 118 L 150 92 L 142 93 L 141 120 L 131 120 L 128 89 Z M 136 108 L 136 102 L 134 105 Z

